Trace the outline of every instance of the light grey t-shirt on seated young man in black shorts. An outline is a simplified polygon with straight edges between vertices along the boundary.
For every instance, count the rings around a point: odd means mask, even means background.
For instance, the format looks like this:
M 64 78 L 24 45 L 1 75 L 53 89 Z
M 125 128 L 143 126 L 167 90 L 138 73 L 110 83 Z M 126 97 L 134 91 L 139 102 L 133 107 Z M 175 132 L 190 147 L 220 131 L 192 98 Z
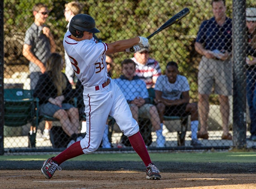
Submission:
M 190 86 L 185 76 L 177 75 L 175 83 L 170 83 L 166 75 L 161 75 L 154 89 L 162 92 L 162 98 L 176 100 L 180 99 L 182 92 L 189 91 Z

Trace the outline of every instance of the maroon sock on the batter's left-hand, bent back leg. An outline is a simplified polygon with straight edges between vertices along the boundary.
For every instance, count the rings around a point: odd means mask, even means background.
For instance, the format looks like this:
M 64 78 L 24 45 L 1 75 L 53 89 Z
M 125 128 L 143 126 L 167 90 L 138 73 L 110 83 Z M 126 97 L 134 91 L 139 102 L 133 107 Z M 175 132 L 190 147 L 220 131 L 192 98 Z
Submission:
M 69 146 L 64 151 L 62 151 L 56 157 L 52 158 L 52 160 L 60 165 L 64 161 L 66 161 L 68 159 L 71 159 L 71 158 L 74 158 L 76 156 L 80 156 L 82 154 L 84 154 L 84 153 L 83 153 L 83 150 L 80 146 L 80 141 L 78 141 L 78 142 L 75 142 L 74 144 L 72 144 L 71 146 Z

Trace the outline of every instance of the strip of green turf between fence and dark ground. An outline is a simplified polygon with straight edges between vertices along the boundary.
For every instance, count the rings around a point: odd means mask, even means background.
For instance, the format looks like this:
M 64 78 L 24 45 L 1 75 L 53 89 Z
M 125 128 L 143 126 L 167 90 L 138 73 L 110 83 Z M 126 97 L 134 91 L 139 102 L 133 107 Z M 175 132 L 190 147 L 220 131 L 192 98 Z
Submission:
M 45 161 L 56 156 L 23 155 L 0 156 L 0 161 Z M 152 161 L 164 162 L 198 162 L 198 163 L 256 163 L 256 152 L 154 152 L 150 153 Z M 69 161 L 141 161 L 136 153 L 86 154 Z

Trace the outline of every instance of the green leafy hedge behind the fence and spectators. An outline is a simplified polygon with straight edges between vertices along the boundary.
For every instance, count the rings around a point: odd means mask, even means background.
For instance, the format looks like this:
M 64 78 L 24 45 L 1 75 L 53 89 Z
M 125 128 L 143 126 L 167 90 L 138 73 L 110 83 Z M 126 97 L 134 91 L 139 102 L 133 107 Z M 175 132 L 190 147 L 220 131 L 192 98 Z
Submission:
M 55 37 L 57 52 L 63 55 L 62 40 L 67 22 L 63 14 L 66 2 L 62 0 L 5 0 L 5 36 L 12 38 L 17 32 L 21 37 L 24 36 L 26 29 L 33 23 L 32 7 L 37 2 L 45 3 L 51 10 L 46 24 Z M 177 61 L 180 73 L 187 76 L 190 82 L 192 99 L 197 100 L 197 68 L 201 57 L 194 50 L 194 40 L 201 22 L 212 17 L 209 0 L 79 0 L 79 2 L 83 5 L 83 13 L 95 18 L 96 27 L 101 31 L 97 33 L 97 37 L 106 43 L 136 35 L 147 37 L 174 14 L 188 7 L 190 14 L 149 40 L 152 50 L 150 56 L 160 62 L 163 72 L 166 62 Z M 256 7 L 255 0 L 247 0 L 246 3 L 248 7 Z M 226 5 L 227 15 L 232 17 L 232 1 L 226 1 Z M 10 54 L 10 52 L 6 47 L 6 64 L 10 63 L 8 60 L 27 64 L 26 59 L 19 53 Z M 117 65 L 123 59 L 133 56 L 128 53 L 114 55 L 114 62 Z M 119 67 L 116 66 L 114 77 L 119 77 Z

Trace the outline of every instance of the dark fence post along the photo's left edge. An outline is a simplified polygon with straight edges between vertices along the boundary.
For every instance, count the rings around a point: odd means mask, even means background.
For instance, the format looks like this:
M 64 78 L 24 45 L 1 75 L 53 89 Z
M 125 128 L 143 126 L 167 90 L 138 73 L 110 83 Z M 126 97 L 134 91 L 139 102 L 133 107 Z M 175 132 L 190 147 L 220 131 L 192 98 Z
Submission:
M 0 1 L 0 155 L 4 154 L 4 1 Z

